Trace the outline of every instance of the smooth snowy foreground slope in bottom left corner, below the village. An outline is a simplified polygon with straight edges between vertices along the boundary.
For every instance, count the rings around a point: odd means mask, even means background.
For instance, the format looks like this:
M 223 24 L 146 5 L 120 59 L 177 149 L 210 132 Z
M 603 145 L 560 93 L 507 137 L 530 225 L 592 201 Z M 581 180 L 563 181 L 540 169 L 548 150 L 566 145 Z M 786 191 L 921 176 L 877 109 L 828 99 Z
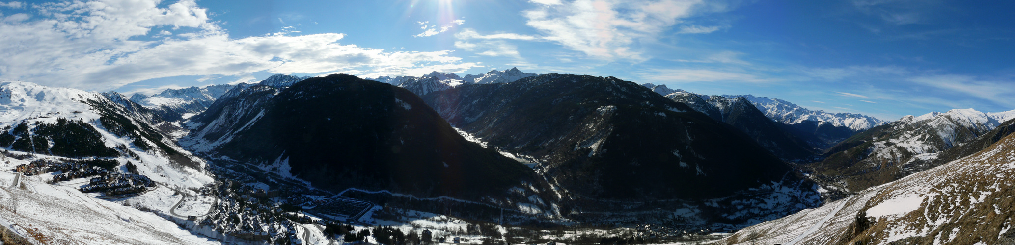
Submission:
M 0 225 L 35 244 L 220 244 L 155 214 L 8 171 L 0 171 Z

